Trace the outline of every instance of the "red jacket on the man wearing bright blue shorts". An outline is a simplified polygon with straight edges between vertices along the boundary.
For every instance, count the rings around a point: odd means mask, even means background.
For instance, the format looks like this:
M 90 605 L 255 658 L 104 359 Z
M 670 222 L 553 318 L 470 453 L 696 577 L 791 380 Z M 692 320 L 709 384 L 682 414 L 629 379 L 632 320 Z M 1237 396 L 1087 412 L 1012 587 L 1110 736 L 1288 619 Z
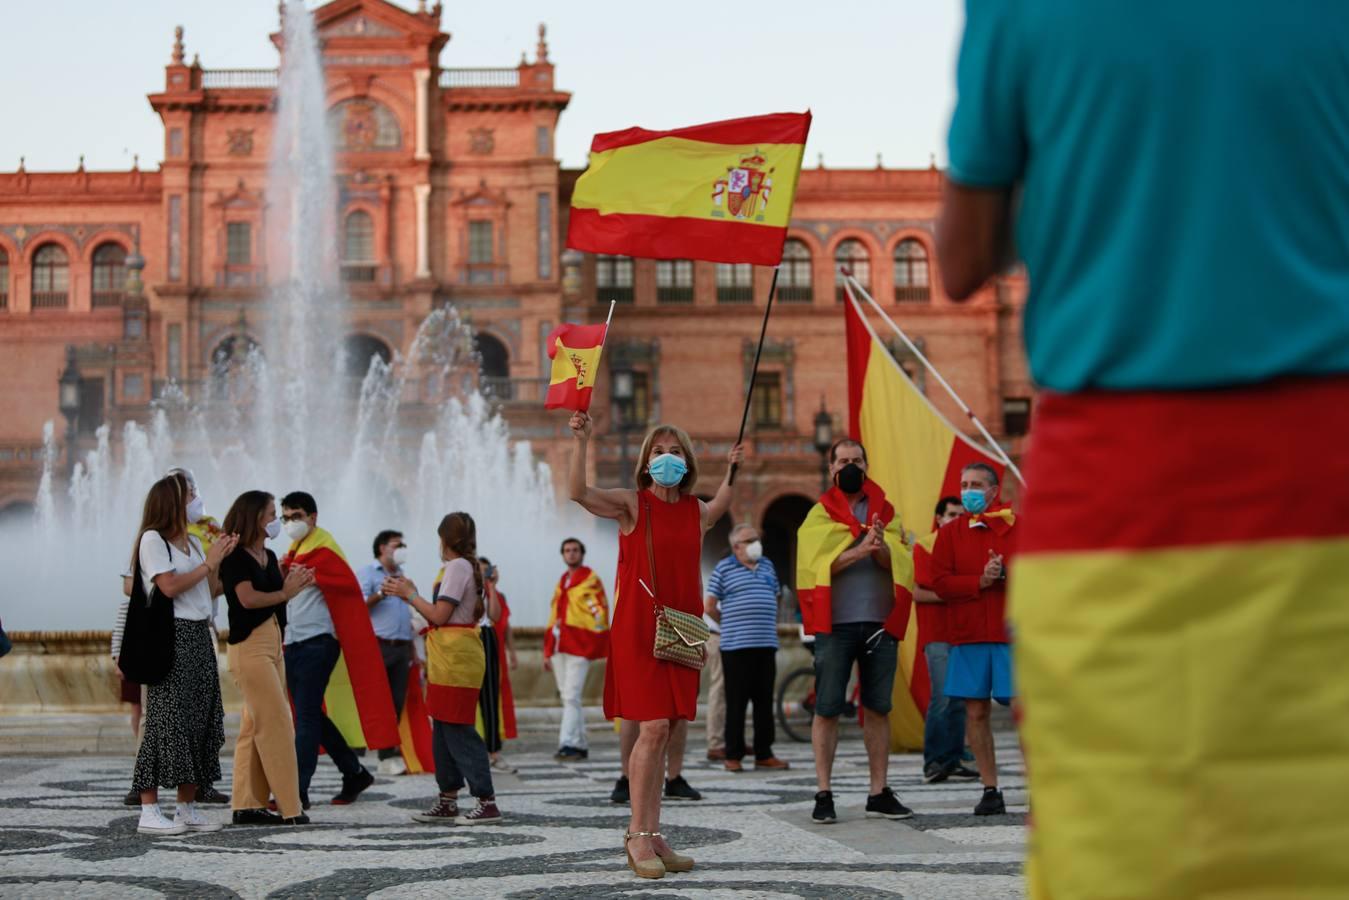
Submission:
M 947 602 L 951 644 L 1008 644 L 1006 580 L 979 587 L 989 551 L 1010 572 L 1017 526 L 1000 515 L 1001 506 L 981 515 L 962 515 L 938 532 L 932 546 L 932 591 Z

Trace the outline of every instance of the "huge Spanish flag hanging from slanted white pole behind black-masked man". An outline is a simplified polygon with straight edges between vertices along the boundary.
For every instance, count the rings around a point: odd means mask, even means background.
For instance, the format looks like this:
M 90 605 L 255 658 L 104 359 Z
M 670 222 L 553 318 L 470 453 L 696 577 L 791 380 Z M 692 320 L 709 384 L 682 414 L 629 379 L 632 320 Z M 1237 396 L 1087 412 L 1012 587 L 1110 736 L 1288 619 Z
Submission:
M 936 502 L 960 493 L 965 466 L 987 463 L 1000 478 L 1004 467 L 932 406 L 871 331 L 853 287 L 846 283 L 844 287 L 849 434 L 866 447 L 867 476 L 881 484 L 907 528 L 925 528 Z M 929 694 L 927 663 L 919 646 L 919 617 L 913 615 L 900 641 L 900 671 L 894 679 L 890 714 L 894 749 L 923 746 Z

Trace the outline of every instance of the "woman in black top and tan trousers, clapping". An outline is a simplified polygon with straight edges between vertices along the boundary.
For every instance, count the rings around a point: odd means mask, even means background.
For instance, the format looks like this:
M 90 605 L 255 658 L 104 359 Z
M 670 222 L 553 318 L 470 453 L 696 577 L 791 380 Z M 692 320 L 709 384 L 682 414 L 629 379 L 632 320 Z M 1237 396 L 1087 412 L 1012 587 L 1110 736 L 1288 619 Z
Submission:
M 282 631 L 286 603 L 314 583 L 312 569 L 293 565 L 285 575 L 268 537 L 281 534 L 277 501 L 266 491 L 239 495 L 225 515 L 239 546 L 220 564 L 220 584 L 229 609 L 229 673 L 244 698 L 235 743 L 232 806 L 235 824 L 306 824 L 295 765 L 295 726 L 286 696 Z M 277 797 L 281 815 L 267 811 Z

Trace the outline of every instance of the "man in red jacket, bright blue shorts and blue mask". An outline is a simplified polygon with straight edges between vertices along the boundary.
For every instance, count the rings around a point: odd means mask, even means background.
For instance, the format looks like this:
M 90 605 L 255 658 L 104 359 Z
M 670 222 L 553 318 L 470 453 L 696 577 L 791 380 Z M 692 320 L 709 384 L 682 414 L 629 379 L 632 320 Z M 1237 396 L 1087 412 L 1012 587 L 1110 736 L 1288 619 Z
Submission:
M 1016 553 L 1016 515 L 997 505 L 998 475 L 985 463 L 960 472 L 966 515 L 948 524 L 932 546 L 932 590 L 947 602 L 951 654 L 946 695 L 965 699 L 966 733 L 979 765 L 983 796 L 974 815 L 1006 812 L 998 791 L 990 698 L 1012 703 L 1012 653 L 1006 630 L 1006 572 Z

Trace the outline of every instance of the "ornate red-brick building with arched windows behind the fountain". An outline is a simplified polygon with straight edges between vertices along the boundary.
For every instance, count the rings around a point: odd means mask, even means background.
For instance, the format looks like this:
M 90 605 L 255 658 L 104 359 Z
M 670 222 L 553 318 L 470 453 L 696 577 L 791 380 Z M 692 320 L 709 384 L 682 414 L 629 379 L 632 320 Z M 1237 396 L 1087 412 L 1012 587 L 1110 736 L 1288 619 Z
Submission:
M 541 403 L 544 337 L 561 321 L 600 320 L 616 300 L 596 395 L 598 476 L 618 483 L 646 424 L 673 421 L 708 455 L 699 487 L 714 490 L 772 271 L 564 252 L 579 173 L 553 152 L 571 94 L 554 86 L 542 27 L 533 61 L 453 69 L 441 65 L 449 35 L 440 4 L 409 12 L 332 0 L 314 16 L 353 358 L 406 351 L 432 309 L 455 305 L 479 332 L 484 383 L 514 433 L 561 471 L 565 417 Z M 0 515 L 31 507 L 43 422 L 61 424 L 58 436 L 69 424 L 62 449 L 82 452 L 98 425 L 116 436 L 165 385 L 192 395 L 260 341 L 277 72 L 186 58 L 179 28 L 163 88 L 148 97 L 165 125 L 158 170 L 86 171 L 81 162 L 70 173 L 0 173 Z M 622 127 L 638 111 L 614 115 Z M 944 296 L 932 263 L 940 181 L 936 169 L 880 165 L 801 174 L 750 416 L 751 457 L 737 482 L 741 518 L 765 528 L 780 561 L 820 487 L 819 413 L 835 432 L 846 421 L 838 262 L 1020 449 L 1032 395 L 1017 331 L 1024 285 L 1012 277 L 962 305 Z M 128 294 L 128 271 L 142 266 L 143 294 Z M 944 397 L 934 401 L 956 421 Z

